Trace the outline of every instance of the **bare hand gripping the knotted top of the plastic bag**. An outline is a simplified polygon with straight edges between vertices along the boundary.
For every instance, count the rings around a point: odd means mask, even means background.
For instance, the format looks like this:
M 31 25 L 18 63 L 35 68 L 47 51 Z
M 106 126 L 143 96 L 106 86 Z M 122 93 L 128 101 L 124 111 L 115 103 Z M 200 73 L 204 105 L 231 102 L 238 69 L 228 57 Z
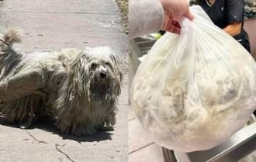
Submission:
M 178 23 L 180 17 L 194 19 L 187 0 L 161 0 L 161 4 L 164 8 L 164 23 L 161 28 L 168 32 L 180 33 L 181 26 Z

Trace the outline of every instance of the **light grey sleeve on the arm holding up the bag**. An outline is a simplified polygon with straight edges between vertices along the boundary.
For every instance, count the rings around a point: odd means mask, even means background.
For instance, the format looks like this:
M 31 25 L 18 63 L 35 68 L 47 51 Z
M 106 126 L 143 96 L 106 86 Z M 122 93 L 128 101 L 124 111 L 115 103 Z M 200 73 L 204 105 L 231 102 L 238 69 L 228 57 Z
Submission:
M 129 1 L 129 37 L 158 32 L 164 20 L 160 0 Z

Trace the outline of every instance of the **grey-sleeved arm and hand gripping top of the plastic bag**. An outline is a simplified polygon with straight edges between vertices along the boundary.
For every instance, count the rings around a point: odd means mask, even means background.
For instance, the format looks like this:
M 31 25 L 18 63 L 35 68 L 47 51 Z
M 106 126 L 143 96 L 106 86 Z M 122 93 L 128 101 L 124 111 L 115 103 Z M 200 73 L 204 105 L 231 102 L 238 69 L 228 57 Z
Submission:
M 158 32 L 160 29 L 179 34 L 178 19 L 185 16 L 192 20 L 187 0 L 130 0 L 129 37 Z

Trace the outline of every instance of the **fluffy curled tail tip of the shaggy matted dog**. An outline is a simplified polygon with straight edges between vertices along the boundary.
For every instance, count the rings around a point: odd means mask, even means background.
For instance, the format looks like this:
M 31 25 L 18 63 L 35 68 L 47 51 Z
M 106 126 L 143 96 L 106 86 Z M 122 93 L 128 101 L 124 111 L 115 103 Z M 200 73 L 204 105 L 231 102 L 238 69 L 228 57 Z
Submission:
M 13 43 L 21 42 L 21 32 L 12 25 L 8 25 L 1 29 L 0 32 L 0 46 L 2 51 L 8 50 Z

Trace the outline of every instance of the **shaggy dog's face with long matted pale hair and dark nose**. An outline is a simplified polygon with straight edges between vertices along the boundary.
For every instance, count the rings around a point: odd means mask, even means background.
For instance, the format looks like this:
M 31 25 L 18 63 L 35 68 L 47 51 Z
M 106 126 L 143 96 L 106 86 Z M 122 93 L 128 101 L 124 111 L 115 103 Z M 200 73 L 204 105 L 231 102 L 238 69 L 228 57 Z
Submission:
M 78 87 L 81 87 L 79 89 L 90 100 L 108 100 L 108 97 L 119 95 L 122 73 L 119 62 L 109 47 L 87 48 L 73 65 L 77 71 L 74 73 L 78 75 Z

